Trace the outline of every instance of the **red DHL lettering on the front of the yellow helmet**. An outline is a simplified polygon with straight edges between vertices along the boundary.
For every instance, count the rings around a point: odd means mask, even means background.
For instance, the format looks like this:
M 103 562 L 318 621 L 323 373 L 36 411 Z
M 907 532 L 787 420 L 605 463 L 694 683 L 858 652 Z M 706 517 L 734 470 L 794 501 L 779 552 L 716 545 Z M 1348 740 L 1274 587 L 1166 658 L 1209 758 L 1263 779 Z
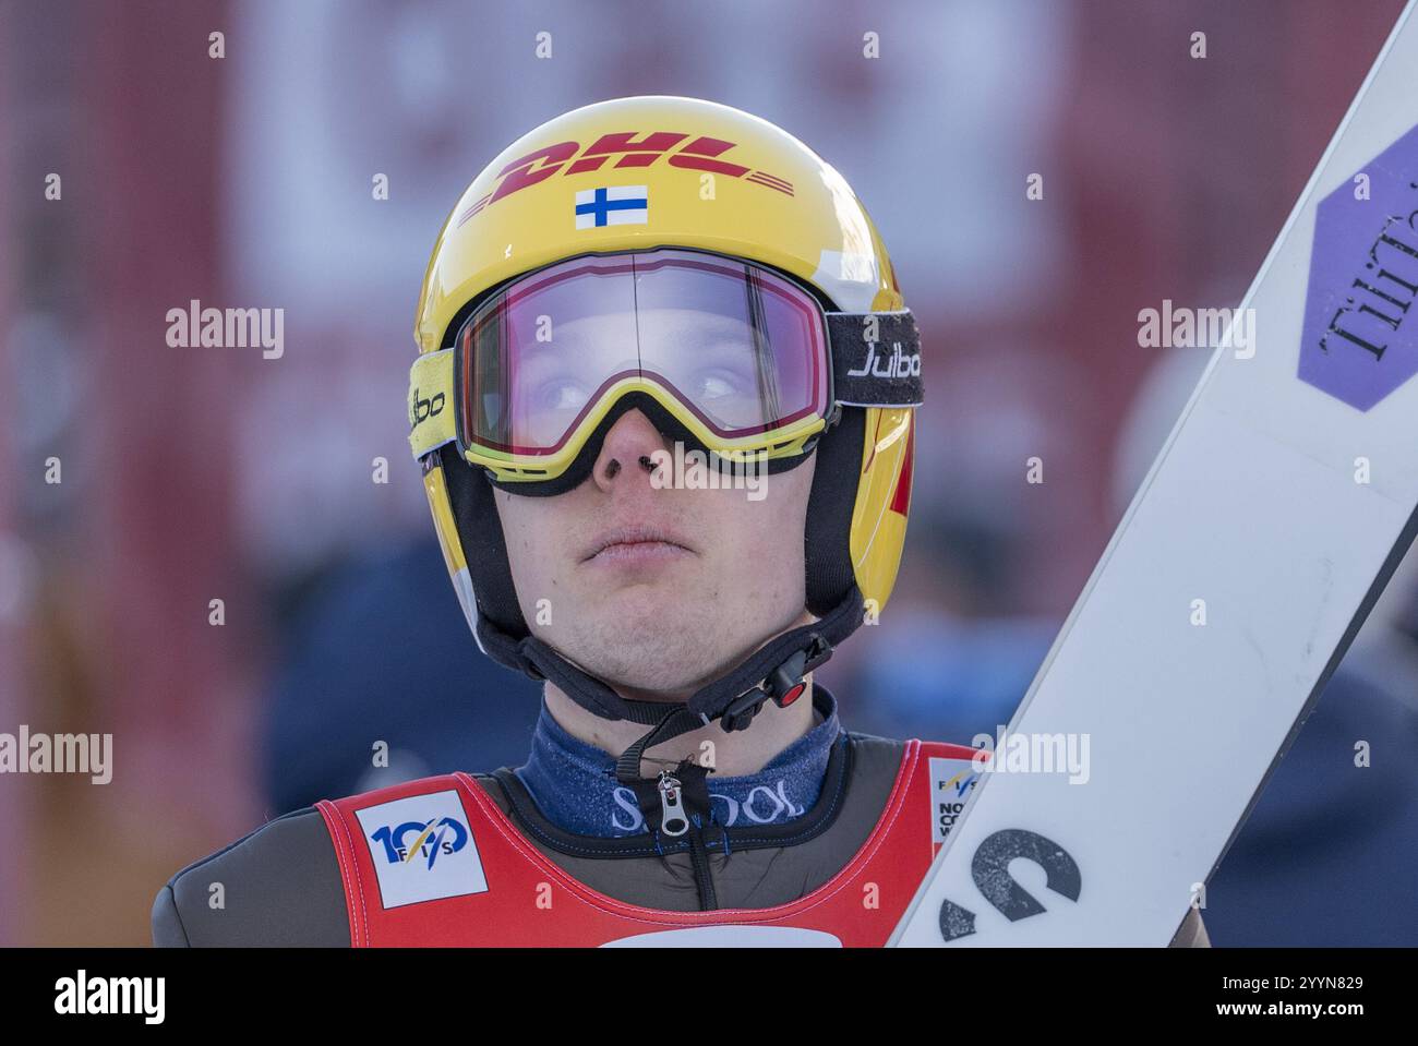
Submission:
M 591 170 L 601 170 L 617 156 L 620 159 L 611 164 L 614 167 L 649 167 L 661 157 L 666 157 L 665 162 L 671 167 L 744 179 L 746 181 L 793 196 L 793 183 L 787 179 L 716 159 L 733 149 L 733 142 L 726 142 L 722 137 L 709 137 L 708 135 L 699 135 L 693 140 L 685 142 L 689 135 L 674 130 L 647 132 L 644 137 L 635 140 L 640 133 L 635 130 L 620 130 L 611 135 L 601 135 L 586 149 L 581 149 L 580 142 L 557 142 L 556 145 L 518 157 L 498 171 L 501 181 L 493 191 L 476 200 L 472 207 L 458 215 L 458 225 L 461 227 L 474 214 L 495 204 L 498 200 L 529 186 L 546 181 L 553 174 L 583 174 Z

